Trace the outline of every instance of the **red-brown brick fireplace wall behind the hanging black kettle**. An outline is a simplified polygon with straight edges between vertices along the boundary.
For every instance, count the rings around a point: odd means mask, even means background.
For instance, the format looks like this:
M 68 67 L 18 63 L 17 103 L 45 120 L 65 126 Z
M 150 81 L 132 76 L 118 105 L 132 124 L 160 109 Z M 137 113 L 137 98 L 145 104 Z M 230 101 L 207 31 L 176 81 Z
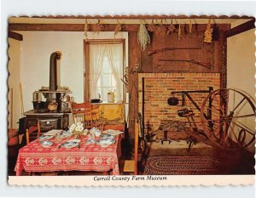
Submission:
M 144 79 L 144 80 L 143 80 Z M 143 88 L 144 81 L 144 88 Z M 172 91 L 213 90 L 220 88 L 219 73 L 139 73 L 138 74 L 138 111 L 143 114 L 144 94 L 144 124 L 150 125 L 156 130 L 161 121 L 187 119 L 177 116 L 177 110 L 183 109 L 180 93 L 174 96 L 179 99 L 178 105 L 168 105 L 167 99 L 172 97 Z M 144 90 L 144 93 L 143 93 Z M 207 97 L 207 93 L 190 93 L 191 97 L 201 107 L 201 103 Z M 185 108 L 195 113 L 195 122 L 201 123 L 200 112 L 196 110 L 189 99 L 186 99 Z

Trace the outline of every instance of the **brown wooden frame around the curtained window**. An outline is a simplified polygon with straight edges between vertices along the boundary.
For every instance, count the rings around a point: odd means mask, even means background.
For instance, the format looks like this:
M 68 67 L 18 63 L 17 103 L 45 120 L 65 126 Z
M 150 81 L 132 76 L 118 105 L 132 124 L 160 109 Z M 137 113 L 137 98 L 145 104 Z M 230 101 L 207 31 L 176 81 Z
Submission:
M 123 76 L 125 75 L 125 39 L 84 39 L 84 102 L 90 102 L 90 45 L 122 44 L 123 45 Z M 125 86 L 123 86 L 123 100 L 125 103 Z

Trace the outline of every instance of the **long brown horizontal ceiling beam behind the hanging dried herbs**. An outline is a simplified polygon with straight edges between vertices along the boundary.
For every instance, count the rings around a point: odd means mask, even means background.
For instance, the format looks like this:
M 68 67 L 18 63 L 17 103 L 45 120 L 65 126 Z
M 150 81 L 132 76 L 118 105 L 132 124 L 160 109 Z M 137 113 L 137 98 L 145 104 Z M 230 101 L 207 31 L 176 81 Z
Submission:
M 230 24 L 218 24 L 218 31 L 230 30 Z M 115 24 L 102 24 L 102 31 L 114 31 Z M 138 31 L 139 25 L 122 25 L 122 31 Z M 207 24 L 197 25 L 197 31 L 206 31 Z M 9 24 L 9 31 L 84 31 L 84 24 Z M 88 31 L 92 25 L 88 25 Z

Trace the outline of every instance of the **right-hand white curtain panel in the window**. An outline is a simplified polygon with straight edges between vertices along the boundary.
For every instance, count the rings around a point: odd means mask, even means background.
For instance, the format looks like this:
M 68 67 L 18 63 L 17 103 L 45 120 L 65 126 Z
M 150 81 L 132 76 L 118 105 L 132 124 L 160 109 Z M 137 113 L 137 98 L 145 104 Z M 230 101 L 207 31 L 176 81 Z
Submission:
M 123 86 L 121 78 L 123 77 L 123 45 L 111 44 L 106 45 L 106 52 L 108 55 L 108 61 L 116 80 L 116 92 L 115 97 L 117 102 L 122 101 Z

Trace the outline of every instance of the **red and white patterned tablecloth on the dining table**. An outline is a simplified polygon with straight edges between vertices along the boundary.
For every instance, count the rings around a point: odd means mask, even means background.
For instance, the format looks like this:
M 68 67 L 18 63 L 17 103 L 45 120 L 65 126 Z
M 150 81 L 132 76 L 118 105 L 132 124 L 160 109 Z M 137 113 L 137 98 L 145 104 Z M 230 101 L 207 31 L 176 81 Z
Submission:
M 73 139 L 73 138 L 70 138 Z M 80 147 L 71 149 L 59 148 L 67 139 L 54 142 L 49 148 L 44 148 L 39 139 L 27 144 L 19 151 L 15 172 L 19 176 L 26 172 L 55 172 L 55 171 L 97 171 L 113 170 L 119 175 L 119 156 L 121 154 L 119 135 L 115 143 L 102 148 L 99 144 L 87 144 L 87 136 L 81 136 Z

